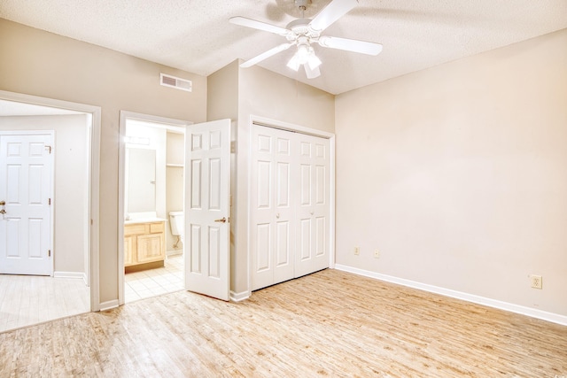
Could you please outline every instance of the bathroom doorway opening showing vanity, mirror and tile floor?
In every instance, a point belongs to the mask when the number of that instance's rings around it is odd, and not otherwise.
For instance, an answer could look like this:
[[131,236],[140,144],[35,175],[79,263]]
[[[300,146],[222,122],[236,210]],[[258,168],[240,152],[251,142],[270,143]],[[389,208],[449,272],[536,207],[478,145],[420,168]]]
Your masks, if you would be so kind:
[[120,112],[120,305],[184,289],[183,171],[188,125],[183,120]]

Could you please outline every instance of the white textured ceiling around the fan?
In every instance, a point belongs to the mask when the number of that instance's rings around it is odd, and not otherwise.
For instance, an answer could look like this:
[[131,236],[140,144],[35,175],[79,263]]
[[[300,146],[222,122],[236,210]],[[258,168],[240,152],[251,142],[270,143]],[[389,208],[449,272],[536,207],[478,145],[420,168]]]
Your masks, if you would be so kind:
[[[306,18],[330,0],[312,2]],[[280,27],[300,18],[293,0],[0,1],[0,18],[205,76],[285,42],[233,16]],[[293,49],[260,66],[338,94],[566,27],[567,0],[359,0],[323,35],[382,43],[377,57],[316,45],[313,80],[285,66]]]

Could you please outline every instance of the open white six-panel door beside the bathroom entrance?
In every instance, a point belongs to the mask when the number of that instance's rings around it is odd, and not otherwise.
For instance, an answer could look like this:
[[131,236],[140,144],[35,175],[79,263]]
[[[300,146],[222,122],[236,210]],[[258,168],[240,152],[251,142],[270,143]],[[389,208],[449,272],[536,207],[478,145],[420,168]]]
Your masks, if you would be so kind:
[[185,132],[185,288],[229,300],[230,120]]

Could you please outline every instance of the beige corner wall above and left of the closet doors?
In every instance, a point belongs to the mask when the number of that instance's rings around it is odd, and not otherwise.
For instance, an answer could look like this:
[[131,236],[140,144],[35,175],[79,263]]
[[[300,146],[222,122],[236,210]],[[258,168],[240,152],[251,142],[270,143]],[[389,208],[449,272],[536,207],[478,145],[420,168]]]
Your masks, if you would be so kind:
[[248,152],[251,116],[287,122],[332,133],[334,96],[293,81],[264,68],[239,68],[232,62],[208,78],[209,120],[233,120],[231,191],[231,276],[230,289],[242,294],[248,287]]

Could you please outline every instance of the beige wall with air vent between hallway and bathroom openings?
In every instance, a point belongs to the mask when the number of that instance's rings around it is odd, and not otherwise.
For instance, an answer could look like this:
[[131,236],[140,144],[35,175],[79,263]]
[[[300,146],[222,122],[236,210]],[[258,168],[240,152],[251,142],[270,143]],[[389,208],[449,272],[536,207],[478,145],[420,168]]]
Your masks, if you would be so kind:
[[[206,78],[0,19],[0,89],[102,108],[100,302],[118,298],[120,110],[206,120]],[[159,73],[193,81],[159,86]]]

